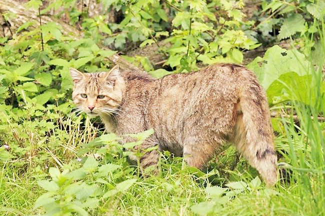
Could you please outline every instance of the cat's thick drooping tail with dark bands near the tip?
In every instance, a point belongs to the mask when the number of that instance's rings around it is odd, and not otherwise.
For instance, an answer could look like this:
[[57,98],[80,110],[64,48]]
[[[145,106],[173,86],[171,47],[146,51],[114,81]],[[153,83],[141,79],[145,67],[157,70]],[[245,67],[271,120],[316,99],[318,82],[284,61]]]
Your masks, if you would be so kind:
[[265,91],[254,80],[242,85],[239,93],[234,143],[266,185],[273,186],[277,157],[270,113]]

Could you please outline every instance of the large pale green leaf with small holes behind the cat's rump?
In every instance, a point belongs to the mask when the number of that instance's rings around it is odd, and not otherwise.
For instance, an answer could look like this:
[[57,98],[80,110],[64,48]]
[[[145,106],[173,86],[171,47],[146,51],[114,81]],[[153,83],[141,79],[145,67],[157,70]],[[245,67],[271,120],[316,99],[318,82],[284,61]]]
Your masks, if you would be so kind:
[[260,84],[267,90],[281,74],[293,71],[300,76],[305,75],[311,71],[311,64],[297,50],[275,45],[266,50],[263,58],[255,58],[247,68],[255,72]]

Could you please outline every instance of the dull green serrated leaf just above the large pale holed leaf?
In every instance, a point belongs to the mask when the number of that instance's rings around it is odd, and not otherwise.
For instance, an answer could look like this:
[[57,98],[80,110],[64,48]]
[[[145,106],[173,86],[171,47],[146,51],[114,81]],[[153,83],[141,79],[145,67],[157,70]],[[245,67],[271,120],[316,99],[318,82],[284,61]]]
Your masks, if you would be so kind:
[[283,22],[280,33],[278,34],[279,39],[287,38],[296,32],[305,31],[305,20],[299,13],[293,13],[289,15]]

